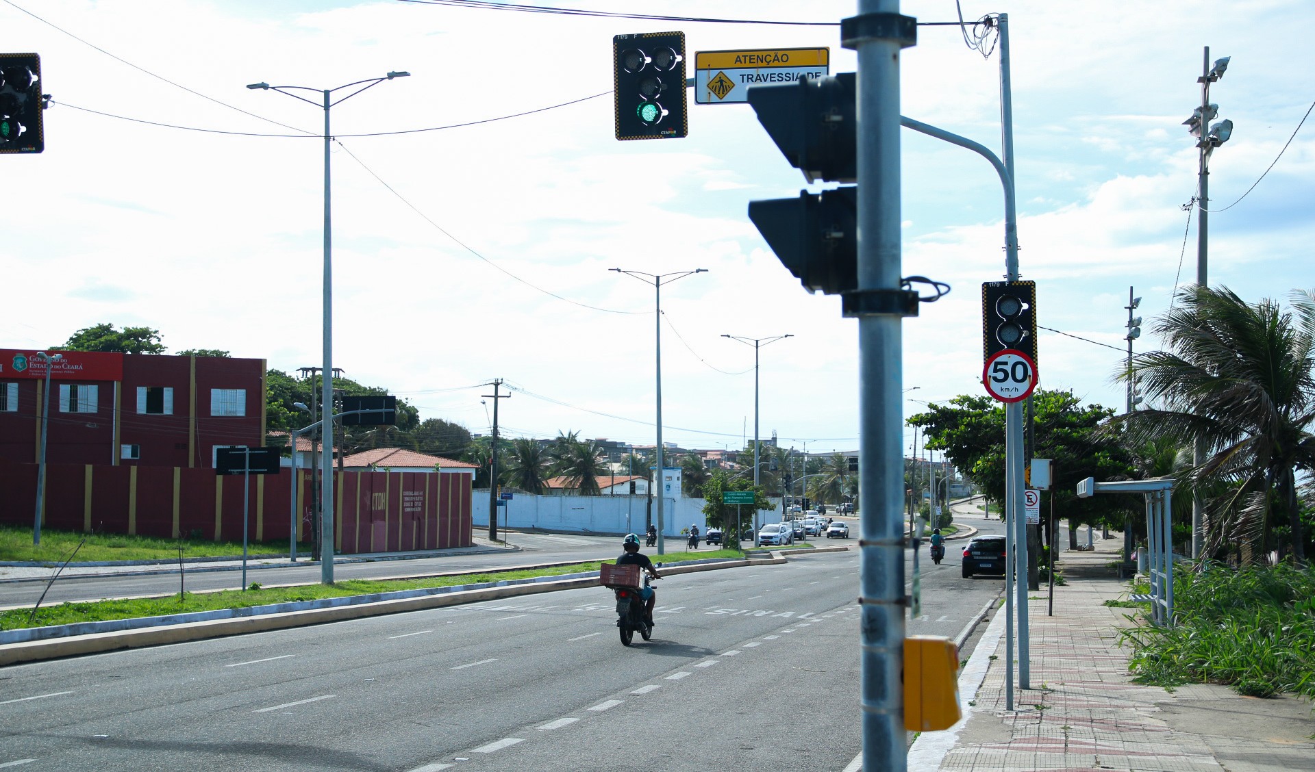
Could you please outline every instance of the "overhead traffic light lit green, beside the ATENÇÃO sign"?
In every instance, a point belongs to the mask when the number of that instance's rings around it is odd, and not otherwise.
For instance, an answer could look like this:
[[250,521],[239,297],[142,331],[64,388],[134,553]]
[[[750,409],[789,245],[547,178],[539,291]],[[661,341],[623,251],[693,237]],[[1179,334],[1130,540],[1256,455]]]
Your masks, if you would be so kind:
[[688,134],[685,33],[611,38],[617,139],[672,139]]

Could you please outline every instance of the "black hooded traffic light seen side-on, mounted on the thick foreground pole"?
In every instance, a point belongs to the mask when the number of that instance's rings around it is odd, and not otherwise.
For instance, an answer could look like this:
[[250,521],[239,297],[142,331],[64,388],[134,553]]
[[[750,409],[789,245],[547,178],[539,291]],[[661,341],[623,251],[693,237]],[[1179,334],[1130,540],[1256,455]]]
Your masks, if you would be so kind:
[[[809,182],[857,179],[853,72],[748,89],[748,102],[790,165]],[[857,288],[857,188],[750,201],[748,217],[809,291]]]

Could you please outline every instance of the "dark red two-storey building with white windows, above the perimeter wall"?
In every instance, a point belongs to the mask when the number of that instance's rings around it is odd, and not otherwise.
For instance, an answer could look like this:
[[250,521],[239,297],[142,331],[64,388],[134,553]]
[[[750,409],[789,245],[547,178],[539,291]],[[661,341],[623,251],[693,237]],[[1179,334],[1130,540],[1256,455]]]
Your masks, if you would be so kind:
[[[46,362],[0,349],[0,458],[41,458]],[[47,463],[214,467],[264,445],[264,360],[50,352]]]

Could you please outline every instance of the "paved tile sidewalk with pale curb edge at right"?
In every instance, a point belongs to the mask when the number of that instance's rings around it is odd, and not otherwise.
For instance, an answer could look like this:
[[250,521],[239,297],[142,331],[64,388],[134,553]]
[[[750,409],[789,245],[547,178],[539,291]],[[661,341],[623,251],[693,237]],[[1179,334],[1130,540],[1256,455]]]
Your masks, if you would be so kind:
[[1103,605],[1126,590],[1110,567],[1122,534],[1111,536],[1094,551],[1061,553],[1068,584],[1055,588],[1055,616],[1045,616],[1044,584],[1030,593],[1031,689],[1015,691],[1015,710],[1005,709],[1005,614],[997,613],[960,679],[964,721],[919,735],[909,769],[1315,771],[1307,701],[1132,683],[1118,629],[1136,609]]

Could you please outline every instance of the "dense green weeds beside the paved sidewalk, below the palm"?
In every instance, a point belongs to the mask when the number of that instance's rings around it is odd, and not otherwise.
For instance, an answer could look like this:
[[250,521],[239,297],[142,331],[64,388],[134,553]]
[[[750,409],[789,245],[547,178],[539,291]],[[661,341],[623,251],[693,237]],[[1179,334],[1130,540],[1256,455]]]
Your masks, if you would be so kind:
[[1315,698],[1315,567],[1212,565],[1174,574],[1173,628],[1122,632],[1143,684],[1224,684],[1241,695]]

